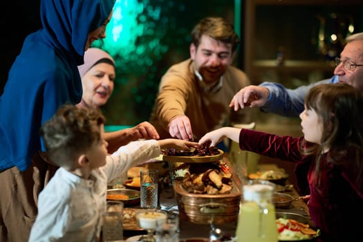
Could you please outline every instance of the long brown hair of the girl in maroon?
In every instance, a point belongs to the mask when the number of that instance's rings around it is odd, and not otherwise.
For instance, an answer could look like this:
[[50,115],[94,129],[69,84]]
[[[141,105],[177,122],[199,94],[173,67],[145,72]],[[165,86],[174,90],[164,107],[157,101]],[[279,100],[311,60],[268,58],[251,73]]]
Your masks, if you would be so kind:
[[328,149],[328,162],[357,171],[362,185],[363,97],[348,84],[322,84],[310,89],[306,109],[314,109],[322,122],[322,140],[308,144],[304,154],[316,156],[315,182],[319,185],[322,154]]

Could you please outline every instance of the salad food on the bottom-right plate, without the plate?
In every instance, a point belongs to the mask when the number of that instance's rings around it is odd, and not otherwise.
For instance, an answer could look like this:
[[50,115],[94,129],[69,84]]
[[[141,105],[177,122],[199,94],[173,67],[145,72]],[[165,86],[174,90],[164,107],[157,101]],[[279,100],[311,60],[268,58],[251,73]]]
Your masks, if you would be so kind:
[[308,224],[300,223],[295,219],[277,218],[277,231],[279,241],[300,241],[314,239],[319,235],[319,230],[313,230]]

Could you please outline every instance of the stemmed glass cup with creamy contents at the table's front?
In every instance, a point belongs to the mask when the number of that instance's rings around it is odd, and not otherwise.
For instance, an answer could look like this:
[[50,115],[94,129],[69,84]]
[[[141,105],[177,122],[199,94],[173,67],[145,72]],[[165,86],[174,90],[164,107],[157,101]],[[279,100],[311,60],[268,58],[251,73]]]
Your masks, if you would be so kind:
[[138,210],[135,214],[138,226],[147,230],[147,236],[142,236],[142,242],[156,242],[153,236],[157,225],[162,225],[167,221],[167,212],[158,209]]

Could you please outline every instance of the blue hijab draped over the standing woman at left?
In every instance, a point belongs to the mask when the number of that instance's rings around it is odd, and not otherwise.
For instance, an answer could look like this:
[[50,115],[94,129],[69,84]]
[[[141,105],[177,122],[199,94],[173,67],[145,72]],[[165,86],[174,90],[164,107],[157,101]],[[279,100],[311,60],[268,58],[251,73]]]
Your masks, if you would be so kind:
[[77,66],[90,32],[109,17],[115,0],[41,0],[42,28],[26,37],[0,97],[0,171],[28,168],[44,150],[41,124],[65,103],[82,98]]

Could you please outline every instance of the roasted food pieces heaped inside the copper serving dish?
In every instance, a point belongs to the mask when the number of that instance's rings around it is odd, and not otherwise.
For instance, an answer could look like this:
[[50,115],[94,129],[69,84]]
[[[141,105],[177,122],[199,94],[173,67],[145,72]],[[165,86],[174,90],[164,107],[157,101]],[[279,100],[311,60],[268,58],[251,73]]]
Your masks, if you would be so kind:
[[232,173],[223,161],[182,163],[174,170],[174,178],[194,194],[227,194],[232,189]]

